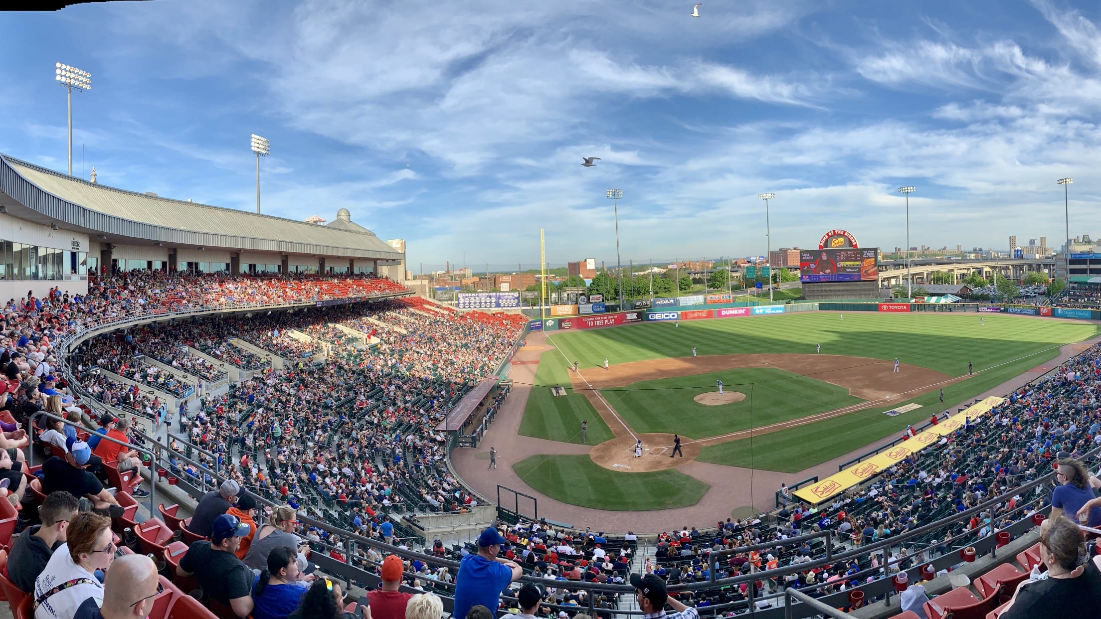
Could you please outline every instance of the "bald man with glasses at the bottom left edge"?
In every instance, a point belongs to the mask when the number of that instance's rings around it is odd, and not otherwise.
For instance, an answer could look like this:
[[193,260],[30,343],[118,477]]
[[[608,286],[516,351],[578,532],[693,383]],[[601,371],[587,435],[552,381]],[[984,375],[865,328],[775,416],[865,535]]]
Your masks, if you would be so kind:
[[156,564],[141,554],[121,556],[103,576],[103,607],[88,598],[73,619],[137,619],[149,617],[153,598],[162,591]]

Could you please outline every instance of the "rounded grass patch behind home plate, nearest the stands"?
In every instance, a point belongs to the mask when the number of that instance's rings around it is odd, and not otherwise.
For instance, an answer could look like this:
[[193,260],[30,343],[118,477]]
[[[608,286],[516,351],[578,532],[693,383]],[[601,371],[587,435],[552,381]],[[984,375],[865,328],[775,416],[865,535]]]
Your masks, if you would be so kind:
[[589,456],[537,455],[512,466],[532,488],[559,501],[592,509],[648,511],[699,502],[710,486],[675,470],[619,473]]

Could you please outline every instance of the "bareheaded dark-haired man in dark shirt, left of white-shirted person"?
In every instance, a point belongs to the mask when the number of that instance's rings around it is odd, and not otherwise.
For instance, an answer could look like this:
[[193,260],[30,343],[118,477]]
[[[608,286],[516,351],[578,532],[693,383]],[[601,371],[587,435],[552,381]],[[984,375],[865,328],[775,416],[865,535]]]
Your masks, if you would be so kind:
[[65,532],[79,507],[76,497],[65,491],[53,492],[42,501],[39,508],[42,524],[24,529],[8,554],[8,578],[20,590],[34,590],[35,578],[45,569],[54,551],[65,543]]

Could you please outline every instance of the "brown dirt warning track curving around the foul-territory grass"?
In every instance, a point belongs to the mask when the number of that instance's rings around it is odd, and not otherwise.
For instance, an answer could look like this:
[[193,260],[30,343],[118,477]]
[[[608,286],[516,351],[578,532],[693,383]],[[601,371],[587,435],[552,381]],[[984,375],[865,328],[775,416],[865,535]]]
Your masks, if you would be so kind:
[[[1080,352],[1084,347],[1098,343],[1101,343],[1101,336],[1083,343],[1061,346],[1059,355],[1046,361],[1044,366],[1054,368]],[[527,337],[527,344],[528,346],[543,347],[543,349],[525,350],[524,348],[520,348],[516,354],[517,360],[534,360],[539,355],[557,354],[554,346],[546,341],[546,334],[544,333],[531,334]],[[538,497],[538,513],[541,518],[575,526],[588,525],[604,531],[618,532],[630,530],[639,534],[659,533],[682,525],[709,526],[719,520],[730,518],[731,511],[735,508],[750,504],[749,497],[751,496],[753,497],[753,506],[755,508],[759,510],[770,509],[774,504],[775,491],[780,488],[781,482],[794,482],[816,475],[825,479],[838,471],[839,464],[879,446],[886,445],[896,438],[895,435],[887,436],[797,474],[768,470],[751,471],[748,468],[701,461],[687,463],[679,467],[678,470],[711,486],[711,489],[708,490],[697,504],[687,508],[648,512],[582,508],[543,496],[525,484],[512,470],[512,465],[535,454],[587,454],[589,450],[588,445],[575,445],[520,435],[520,422],[524,415],[524,408],[527,405],[527,397],[532,389],[530,385],[535,382],[536,368],[535,363],[512,366],[509,377],[513,380],[512,393],[501,406],[497,420],[486,433],[481,445],[478,448],[455,449],[451,453],[451,463],[456,473],[458,473],[464,481],[486,498],[497,500],[497,486],[500,484],[501,486]],[[1036,380],[1040,376],[1039,372],[1025,372],[977,398],[1004,395],[1029,381]],[[494,470],[487,470],[486,467],[489,464],[487,459],[477,458],[477,454],[488,452],[490,446],[497,449],[498,468]]]

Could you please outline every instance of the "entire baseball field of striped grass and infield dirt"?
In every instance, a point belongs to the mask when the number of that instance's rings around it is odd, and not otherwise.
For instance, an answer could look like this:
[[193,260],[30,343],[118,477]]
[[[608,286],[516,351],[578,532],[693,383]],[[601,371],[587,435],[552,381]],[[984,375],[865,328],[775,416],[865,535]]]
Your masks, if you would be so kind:
[[[532,455],[513,468],[571,504],[691,506],[707,486],[677,470],[686,463],[803,471],[1015,377],[1038,377],[1060,346],[1098,330],[998,314],[980,322],[962,313],[808,312],[555,332],[520,434],[579,444],[585,420],[593,447],[588,456]],[[684,458],[668,457],[674,434]]]

